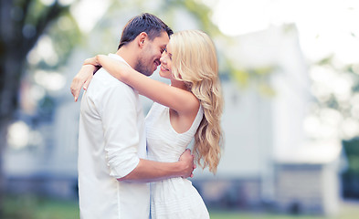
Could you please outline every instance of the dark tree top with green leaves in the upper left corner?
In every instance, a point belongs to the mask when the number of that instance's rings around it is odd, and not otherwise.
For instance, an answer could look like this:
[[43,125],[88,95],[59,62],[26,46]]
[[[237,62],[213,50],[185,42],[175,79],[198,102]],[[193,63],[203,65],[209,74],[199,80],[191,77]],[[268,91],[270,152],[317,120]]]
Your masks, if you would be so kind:
[[[43,5],[40,1],[17,0],[9,3],[2,1],[2,13],[7,13],[2,22],[7,24],[1,28],[0,45],[0,126],[5,130],[8,121],[14,117],[18,107],[18,90],[24,75],[31,69],[27,63],[27,55],[37,40],[48,35],[56,40],[55,51],[58,53],[58,62],[55,66],[48,67],[44,61],[40,61],[32,68],[56,68],[63,64],[69,55],[69,51],[76,43],[79,36],[76,24],[69,22],[70,26],[60,25],[60,20],[71,19],[69,5],[60,5],[54,1],[52,5]],[[5,9],[3,9],[5,8]],[[6,20],[7,19],[7,20]],[[46,51],[44,51],[46,52]],[[46,55],[44,55],[46,56]],[[8,94],[8,95],[5,95]],[[5,122],[5,120],[7,120]],[[3,131],[4,132],[4,131]],[[3,133],[4,134],[4,133]],[[2,138],[3,140],[5,138]]]

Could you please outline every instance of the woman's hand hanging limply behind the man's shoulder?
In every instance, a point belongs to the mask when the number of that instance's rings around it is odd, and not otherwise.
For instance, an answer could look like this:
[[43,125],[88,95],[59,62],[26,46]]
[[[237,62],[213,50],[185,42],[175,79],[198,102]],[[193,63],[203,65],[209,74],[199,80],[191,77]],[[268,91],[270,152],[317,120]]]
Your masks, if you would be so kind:
[[70,86],[72,96],[74,96],[75,102],[79,99],[79,91],[82,86],[83,89],[88,89],[90,81],[93,77],[93,72],[95,72],[98,68],[92,65],[83,65],[81,69],[79,69],[79,73],[72,79],[72,83]]

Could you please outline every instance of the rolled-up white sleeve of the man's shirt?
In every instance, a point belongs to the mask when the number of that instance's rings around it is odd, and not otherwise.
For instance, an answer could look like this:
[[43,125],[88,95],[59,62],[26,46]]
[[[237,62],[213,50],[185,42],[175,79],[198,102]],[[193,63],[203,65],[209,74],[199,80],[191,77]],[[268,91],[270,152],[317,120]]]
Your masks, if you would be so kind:
[[136,168],[140,159],[136,98],[125,84],[113,86],[100,100],[100,117],[110,175],[121,178]]

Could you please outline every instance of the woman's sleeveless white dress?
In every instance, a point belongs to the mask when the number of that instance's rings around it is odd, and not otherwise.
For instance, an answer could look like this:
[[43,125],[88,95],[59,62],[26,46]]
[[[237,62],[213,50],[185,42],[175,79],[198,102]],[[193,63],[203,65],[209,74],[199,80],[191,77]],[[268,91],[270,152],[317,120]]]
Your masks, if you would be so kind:
[[[146,138],[149,160],[177,162],[195,136],[203,118],[199,108],[191,128],[177,133],[170,121],[169,108],[156,102],[146,117]],[[153,219],[206,219],[206,205],[192,183],[182,177],[151,183],[151,215]]]

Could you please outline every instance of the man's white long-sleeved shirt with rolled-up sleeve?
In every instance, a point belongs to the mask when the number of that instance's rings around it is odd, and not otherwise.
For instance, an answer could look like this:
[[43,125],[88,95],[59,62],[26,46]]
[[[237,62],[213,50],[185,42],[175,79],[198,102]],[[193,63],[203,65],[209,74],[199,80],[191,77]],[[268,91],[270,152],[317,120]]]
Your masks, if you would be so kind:
[[[109,57],[125,62],[115,54]],[[146,139],[138,93],[100,68],[80,107],[80,218],[149,218],[149,185],[117,181],[139,158],[146,158]]]

